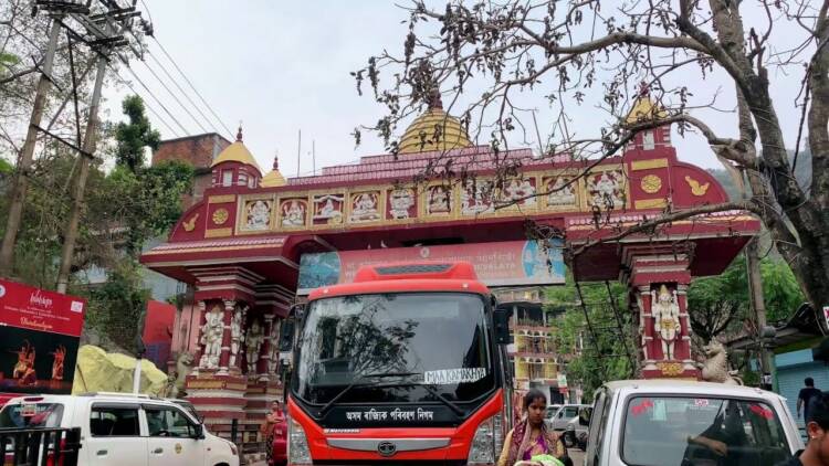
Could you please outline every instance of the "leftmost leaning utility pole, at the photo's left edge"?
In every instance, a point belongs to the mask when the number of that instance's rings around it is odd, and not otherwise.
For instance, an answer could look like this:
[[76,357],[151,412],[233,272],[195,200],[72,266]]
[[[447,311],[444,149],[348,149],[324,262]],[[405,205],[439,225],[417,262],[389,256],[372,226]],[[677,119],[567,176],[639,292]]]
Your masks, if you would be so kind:
[[52,81],[52,65],[54,64],[54,52],[57,45],[57,34],[61,31],[62,14],[52,18],[49,29],[49,45],[46,56],[43,60],[43,68],[38,80],[38,88],[34,94],[34,107],[29,119],[29,129],[25,134],[25,142],[18,158],[18,167],[14,172],[14,184],[11,188],[11,201],[9,204],[9,219],[6,222],[6,234],[0,248],[0,276],[10,276],[14,271],[14,244],[20,230],[20,219],[23,215],[23,203],[29,189],[29,170],[34,158],[34,146],[38,144],[38,127],[43,119],[43,107],[46,103],[46,93]]

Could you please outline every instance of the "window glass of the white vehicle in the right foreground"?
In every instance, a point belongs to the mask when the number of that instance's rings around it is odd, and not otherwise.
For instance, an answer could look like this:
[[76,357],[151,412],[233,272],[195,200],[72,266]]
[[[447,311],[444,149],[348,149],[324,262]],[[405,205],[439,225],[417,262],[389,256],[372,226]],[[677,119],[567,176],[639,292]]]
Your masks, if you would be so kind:
[[790,457],[775,410],[760,401],[637,396],[628,402],[629,465],[777,465]]

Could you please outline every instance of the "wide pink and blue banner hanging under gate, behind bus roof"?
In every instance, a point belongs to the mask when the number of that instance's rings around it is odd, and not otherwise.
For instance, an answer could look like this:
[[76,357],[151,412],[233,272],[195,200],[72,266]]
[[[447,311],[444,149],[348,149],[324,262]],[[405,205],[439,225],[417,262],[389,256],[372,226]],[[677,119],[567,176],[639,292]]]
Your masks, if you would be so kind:
[[475,267],[478,278],[492,287],[559,285],[565,280],[560,241],[554,241],[552,247],[535,241],[504,241],[303,254],[297,294],[350,283],[364,265],[408,261],[466,261]]

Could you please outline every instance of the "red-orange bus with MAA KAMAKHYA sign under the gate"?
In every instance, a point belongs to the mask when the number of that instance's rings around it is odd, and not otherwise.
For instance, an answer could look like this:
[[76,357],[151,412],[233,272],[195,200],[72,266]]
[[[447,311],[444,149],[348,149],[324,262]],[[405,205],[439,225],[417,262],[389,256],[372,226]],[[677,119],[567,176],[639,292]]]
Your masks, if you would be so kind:
[[471,264],[366,266],[312,292],[288,465],[494,465],[512,412],[508,316]]

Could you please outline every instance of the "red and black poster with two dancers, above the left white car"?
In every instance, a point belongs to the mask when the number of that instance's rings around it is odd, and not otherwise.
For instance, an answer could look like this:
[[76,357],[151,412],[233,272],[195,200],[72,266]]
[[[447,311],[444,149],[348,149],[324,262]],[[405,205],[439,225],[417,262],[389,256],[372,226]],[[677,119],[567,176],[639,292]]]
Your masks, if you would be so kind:
[[71,393],[86,301],[0,279],[0,392]]

